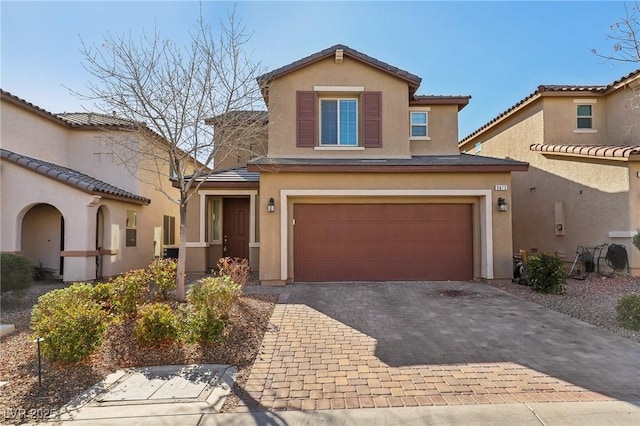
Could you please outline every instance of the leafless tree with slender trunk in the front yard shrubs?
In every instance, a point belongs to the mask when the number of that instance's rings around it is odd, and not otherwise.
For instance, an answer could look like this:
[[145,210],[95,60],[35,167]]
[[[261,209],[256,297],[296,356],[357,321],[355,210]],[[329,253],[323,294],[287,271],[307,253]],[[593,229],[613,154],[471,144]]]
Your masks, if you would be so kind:
[[256,84],[262,70],[245,53],[250,35],[235,10],[227,18],[214,36],[201,14],[186,46],[162,38],[154,29],[139,39],[109,34],[102,44],[83,43],[81,48],[84,66],[95,80],[87,93],[76,94],[105,113],[130,120],[138,134],[153,141],[140,144],[111,135],[109,139],[126,148],[121,150],[127,153],[126,163],[136,170],[165,170],[165,176],[170,165],[179,196],[172,196],[166,185],[157,189],[180,206],[179,300],[185,298],[190,197],[212,173],[216,152],[228,155],[244,149],[247,139],[264,131],[264,113],[237,114],[262,107]]

